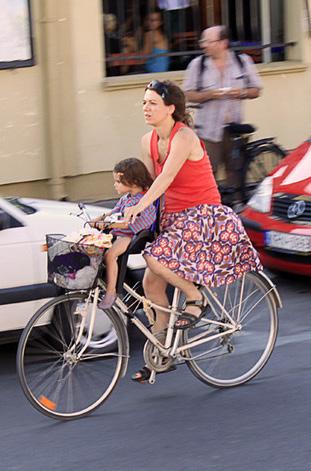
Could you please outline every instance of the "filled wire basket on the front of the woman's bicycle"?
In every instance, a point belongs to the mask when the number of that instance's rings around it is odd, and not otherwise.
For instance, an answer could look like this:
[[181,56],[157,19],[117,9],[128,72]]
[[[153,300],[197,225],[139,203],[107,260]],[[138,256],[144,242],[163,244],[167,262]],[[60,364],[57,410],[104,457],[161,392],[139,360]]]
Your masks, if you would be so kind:
[[48,281],[62,288],[88,289],[94,285],[102,262],[104,248],[69,242],[63,234],[46,236]]

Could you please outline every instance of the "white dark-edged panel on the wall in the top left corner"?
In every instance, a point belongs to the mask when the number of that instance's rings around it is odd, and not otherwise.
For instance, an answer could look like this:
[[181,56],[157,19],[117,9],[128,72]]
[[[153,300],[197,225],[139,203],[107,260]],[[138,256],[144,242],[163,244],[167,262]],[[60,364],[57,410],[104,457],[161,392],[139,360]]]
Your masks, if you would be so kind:
[[30,0],[0,0],[0,69],[34,64]]

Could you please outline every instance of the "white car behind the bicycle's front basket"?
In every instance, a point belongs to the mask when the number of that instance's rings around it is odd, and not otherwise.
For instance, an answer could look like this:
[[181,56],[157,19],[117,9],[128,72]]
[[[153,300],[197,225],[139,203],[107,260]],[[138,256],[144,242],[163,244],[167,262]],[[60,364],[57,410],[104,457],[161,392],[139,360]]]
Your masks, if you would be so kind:
[[[86,209],[91,218],[108,211],[91,205]],[[81,229],[78,212],[76,203],[0,198],[0,343],[15,340],[35,311],[56,295],[57,288],[47,283],[45,235]],[[107,333],[109,326],[98,324],[96,329]]]

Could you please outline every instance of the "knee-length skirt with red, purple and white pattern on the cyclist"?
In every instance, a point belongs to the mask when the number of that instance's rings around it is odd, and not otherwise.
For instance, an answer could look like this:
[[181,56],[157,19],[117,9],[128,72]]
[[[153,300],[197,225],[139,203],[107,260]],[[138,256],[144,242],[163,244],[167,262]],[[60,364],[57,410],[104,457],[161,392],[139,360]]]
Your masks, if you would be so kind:
[[144,255],[204,286],[233,283],[245,272],[262,270],[240,218],[223,205],[163,213],[160,235]]

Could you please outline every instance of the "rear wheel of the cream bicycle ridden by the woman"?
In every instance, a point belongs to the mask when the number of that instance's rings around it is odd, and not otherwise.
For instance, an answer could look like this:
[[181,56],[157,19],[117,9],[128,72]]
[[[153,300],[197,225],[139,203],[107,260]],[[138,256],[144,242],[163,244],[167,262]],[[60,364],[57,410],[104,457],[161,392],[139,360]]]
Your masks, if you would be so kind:
[[[213,289],[240,330],[186,350],[186,364],[198,379],[213,387],[228,388],[246,383],[265,366],[278,331],[277,307],[269,289],[261,275],[254,272]],[[211,312],[207,318],[226,323],[223,309],[210,296],[209,301]],[[205,332],[219,334],[224,328],[202,322],[185,331],[184,342]]]

